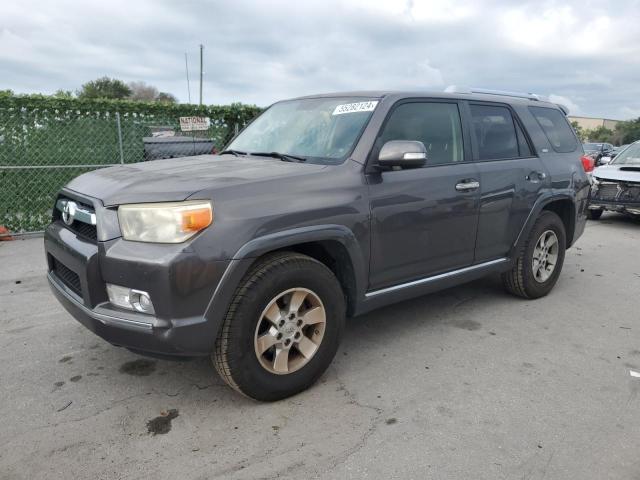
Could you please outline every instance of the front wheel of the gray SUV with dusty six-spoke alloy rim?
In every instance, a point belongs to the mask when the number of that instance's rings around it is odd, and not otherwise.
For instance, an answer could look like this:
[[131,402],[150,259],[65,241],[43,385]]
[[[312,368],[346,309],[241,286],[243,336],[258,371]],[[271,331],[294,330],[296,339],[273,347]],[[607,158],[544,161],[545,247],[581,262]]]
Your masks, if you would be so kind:
[[[304,299],[298,302],[293,295]],[[291,318],[292,304],[297,303],[301,306]],[[314,315],[307,316],[312,310]],[[229,386],[247,397],[275,401],[295,395],[329,367],[342,337],[345,311],[340,283],[325,265],[293,252],[268,255],[236,290],[216,340],[213,364]],[[268,340],[260,343],[263,338]],[[270,346],[260,354],[264,345]]]

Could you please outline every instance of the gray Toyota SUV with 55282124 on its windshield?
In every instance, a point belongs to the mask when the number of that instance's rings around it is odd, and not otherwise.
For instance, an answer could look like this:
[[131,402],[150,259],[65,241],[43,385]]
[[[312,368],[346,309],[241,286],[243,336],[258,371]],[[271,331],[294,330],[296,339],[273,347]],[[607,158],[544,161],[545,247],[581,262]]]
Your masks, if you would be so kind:
[[582,155],[565,111],[528,95],[282,101],[219,155],[71,181],[48,279],[113,345],[209,355],[234,389],[277,400],[322,375],[346,317],[495,273],[546,295],[584,230]]

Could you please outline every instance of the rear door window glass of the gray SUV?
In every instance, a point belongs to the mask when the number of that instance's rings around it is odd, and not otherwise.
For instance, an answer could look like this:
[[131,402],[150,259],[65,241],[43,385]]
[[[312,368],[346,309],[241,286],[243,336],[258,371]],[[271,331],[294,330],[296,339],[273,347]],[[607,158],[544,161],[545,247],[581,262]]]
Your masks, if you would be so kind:
[[[520,157],[520,145],[526,141],[516,134],[516,127],[507,107],[471,104],[473,132],[476,136],[480,160],[500,160]],[[528,150],[528,146],[527,146]],[[529,156],[531,152],[523,152]]]

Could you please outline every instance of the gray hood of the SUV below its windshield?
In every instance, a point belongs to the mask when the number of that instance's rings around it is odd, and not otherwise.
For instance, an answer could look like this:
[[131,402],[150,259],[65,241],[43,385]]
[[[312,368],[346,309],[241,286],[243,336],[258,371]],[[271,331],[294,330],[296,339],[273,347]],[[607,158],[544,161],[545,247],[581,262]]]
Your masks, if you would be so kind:
[[324,168],[265,157],[200,155],[102,168],[75,178],[66,188],[102,200],[105,206],[177,202],[200,190],[304,175]]

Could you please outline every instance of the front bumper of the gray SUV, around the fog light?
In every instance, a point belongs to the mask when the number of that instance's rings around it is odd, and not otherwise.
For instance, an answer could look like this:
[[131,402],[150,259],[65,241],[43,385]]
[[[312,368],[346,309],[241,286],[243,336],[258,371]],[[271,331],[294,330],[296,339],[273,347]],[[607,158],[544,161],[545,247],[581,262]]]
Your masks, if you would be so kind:
[[[91,241],[54,222],[45,231],[48,281],[64,308],[108,342],[160,355],[208,355],[219,321],[212,298],[229,264],[193,244]],[[106,283],[147,291],[155,316],[112,306]],[[224,308],[224,306],[221,306]]]

